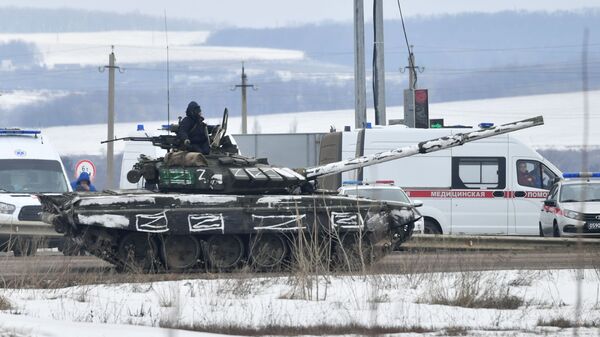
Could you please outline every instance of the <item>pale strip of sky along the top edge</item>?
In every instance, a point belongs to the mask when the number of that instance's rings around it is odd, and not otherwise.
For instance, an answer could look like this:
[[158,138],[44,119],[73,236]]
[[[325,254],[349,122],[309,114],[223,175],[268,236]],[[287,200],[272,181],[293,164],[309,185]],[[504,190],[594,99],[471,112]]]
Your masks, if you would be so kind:
[[[371,17],[372,0],[365,0],[365,17]],[[600,7],[600,0],[401,0],[403,15],[439,15],[469,11],[556,11]],[[139,12],[155,16],[196,19],[208,23],[243,27],[275,27],[349,21],[351,0],[1,0],[0,7],[80,8],[87,10]],[[384,0],[384,17],[398,19],[397,0]]]

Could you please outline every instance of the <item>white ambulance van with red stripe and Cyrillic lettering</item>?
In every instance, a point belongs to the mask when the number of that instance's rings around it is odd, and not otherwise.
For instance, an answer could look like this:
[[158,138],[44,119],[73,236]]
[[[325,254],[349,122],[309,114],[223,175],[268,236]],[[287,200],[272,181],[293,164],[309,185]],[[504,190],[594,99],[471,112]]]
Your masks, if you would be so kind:
[[[469,131],[472,129],[393,125],[330,133],[321,141],[320,162]],[[519,180],[519,165],[534,179]],[[341,180],[351,179],[393,180],[411,198],[423,201],[419,211],[425,218],[426,233],[538,235],[542,201],[561,172],[514,135],[504,134],[365,167],[362,177],[356,175],[353,171],[330,178],[323,187],[335,189]]]

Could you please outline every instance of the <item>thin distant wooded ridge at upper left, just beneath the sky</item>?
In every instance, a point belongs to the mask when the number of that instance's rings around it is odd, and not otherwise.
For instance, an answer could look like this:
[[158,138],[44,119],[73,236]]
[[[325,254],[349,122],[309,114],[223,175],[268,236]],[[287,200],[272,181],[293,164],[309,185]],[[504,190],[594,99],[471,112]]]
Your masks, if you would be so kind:
[[[203,30],[207,25],[169,19],[169,30]],[[165,19],[139,13],[0,7],[1,33],[94,32],[107,30],[164,30]]]

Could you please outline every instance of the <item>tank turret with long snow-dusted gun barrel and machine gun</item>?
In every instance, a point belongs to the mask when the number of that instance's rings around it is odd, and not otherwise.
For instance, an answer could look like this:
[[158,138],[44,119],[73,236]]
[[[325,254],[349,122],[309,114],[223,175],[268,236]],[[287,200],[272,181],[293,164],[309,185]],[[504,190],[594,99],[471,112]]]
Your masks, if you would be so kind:
[[[210,193],[210,194],[301,194],[315,190],[316,179],[365,166],[396,160],[416,154],[430,153],[466,144],[479,139],[513,132],[544,123],[541,116],[496,127],[458,133],[431,139],[412,146],[342,160],[311,168],[286,168],[268,164],[267,159],[248,158],[237,153],[229,138],[224,136],[227,127],[227,110],[223,124],[212,137],[211,153],[187,152],[178,146],[177,137],[160,136],[158,140],[146,138],[155,145],[169,150],[164,158],[149,160],[141,157],[127,175],[131,183],[141,177],[157,185],[160,192]],[[156,138],[156,137],[155,137]],[[140,139],[129,139],[140,140]]]

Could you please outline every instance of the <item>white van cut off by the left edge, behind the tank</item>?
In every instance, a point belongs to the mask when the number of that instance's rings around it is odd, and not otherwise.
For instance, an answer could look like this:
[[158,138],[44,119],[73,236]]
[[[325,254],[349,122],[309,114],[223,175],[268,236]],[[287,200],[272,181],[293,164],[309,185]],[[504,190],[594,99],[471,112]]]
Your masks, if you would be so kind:
[[33,255],[40,240],[59,247],[62,235],[41,222],[36,193],[71,190],[58,153],[38,130],[0,129],[0,249]]

